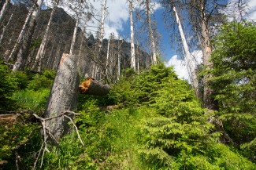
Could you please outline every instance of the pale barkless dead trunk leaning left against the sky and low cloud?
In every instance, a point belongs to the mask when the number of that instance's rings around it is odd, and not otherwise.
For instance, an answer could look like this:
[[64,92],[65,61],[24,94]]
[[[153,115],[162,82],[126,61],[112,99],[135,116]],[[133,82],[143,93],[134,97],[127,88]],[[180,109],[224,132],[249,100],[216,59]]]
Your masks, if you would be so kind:
[[182,28],[182,25],[180,23],[180,18],[179,18],[179,15],[176,11],[176,7],[173,5],[173,11],[175,13],[175,16],[176,16],[176,22],[178,24],[178,28],[179,28],[179,31],[180,31],[180,37],[181,37],[181,42],[184,46],[184,52],[185,52],[185,62],[186,62],[186,65],[187,65],[187,70],[191,73],[190,75],[190,79],[191,79],[191,84],[193,86],[193,89],[195,90],[195,95],[198,96],[198,78],[197,78],[197,75],[195,74],[195,67],[193,65],[193,56],[191,55],[191,52],[189,52],[189,48],[188,48],[188,45],[187,45],[187,41],[186,41],[186,38],[185,38],[185,34],[184,34],[184,31],[183,31],[183,28]]

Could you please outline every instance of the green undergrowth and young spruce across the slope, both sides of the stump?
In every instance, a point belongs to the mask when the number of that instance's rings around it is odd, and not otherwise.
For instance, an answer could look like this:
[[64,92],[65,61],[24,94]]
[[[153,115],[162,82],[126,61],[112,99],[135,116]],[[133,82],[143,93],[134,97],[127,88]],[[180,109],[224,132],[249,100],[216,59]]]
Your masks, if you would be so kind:
[[[5,76],[5,81],[10,78],[8,83],[16,82],[6,99],[17,110],[24,110],[25,117],[19,123],[0,126],[0,161],[7,161],[4,169],[15,169],[19,155],[20,169],[32,169],[43,139],[39,122],[28,111],[40,113],[46,106],[54,72]],[[74,120],[84,146],[72,128],[58,146],[48,144],[50,152],[41,154],[37,169],[256,167],[243,155],[250,150],[241,152],[220,143],[222,132],[207,121],[215,112],[202,108],[191,85],[163,63],[141,74],[127,71],[108,96],[79,95],[76,112],[80,115]]]

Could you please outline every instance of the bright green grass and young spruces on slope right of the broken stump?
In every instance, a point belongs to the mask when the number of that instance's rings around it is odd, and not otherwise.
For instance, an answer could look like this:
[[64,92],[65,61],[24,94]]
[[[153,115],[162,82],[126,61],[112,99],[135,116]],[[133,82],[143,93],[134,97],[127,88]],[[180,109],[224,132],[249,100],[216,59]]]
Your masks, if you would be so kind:
[[80,96],[78,112],[85,146],[72,132],[44,169],[255,169],[219,142],[190,85],[162,63],[121,79],[109,96]]

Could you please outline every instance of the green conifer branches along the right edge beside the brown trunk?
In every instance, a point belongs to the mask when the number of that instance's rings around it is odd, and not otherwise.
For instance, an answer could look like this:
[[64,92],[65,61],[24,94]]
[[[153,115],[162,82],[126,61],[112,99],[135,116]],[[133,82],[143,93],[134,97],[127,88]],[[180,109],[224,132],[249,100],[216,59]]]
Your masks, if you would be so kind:
[[[209,73],[224,128],[235,143],[249,144],[256,138],[256,26],[226,24],[213,45]],[[255,156],[255,142],[243,147],[254,153],[249,157]]]

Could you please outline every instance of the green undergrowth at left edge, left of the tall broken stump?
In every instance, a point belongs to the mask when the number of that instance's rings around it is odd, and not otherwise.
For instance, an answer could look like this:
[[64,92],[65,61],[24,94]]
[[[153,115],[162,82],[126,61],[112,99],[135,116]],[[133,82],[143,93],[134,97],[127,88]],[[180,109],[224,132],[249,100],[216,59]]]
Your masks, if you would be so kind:
[[14,115],[0,122],[0,169],[16,169],[16,161],[20,169],[32,169],[42,143],[41,124],[32,113],[42,116],[55,71],[12,73],[4,64],[0,70],[0,114]]

